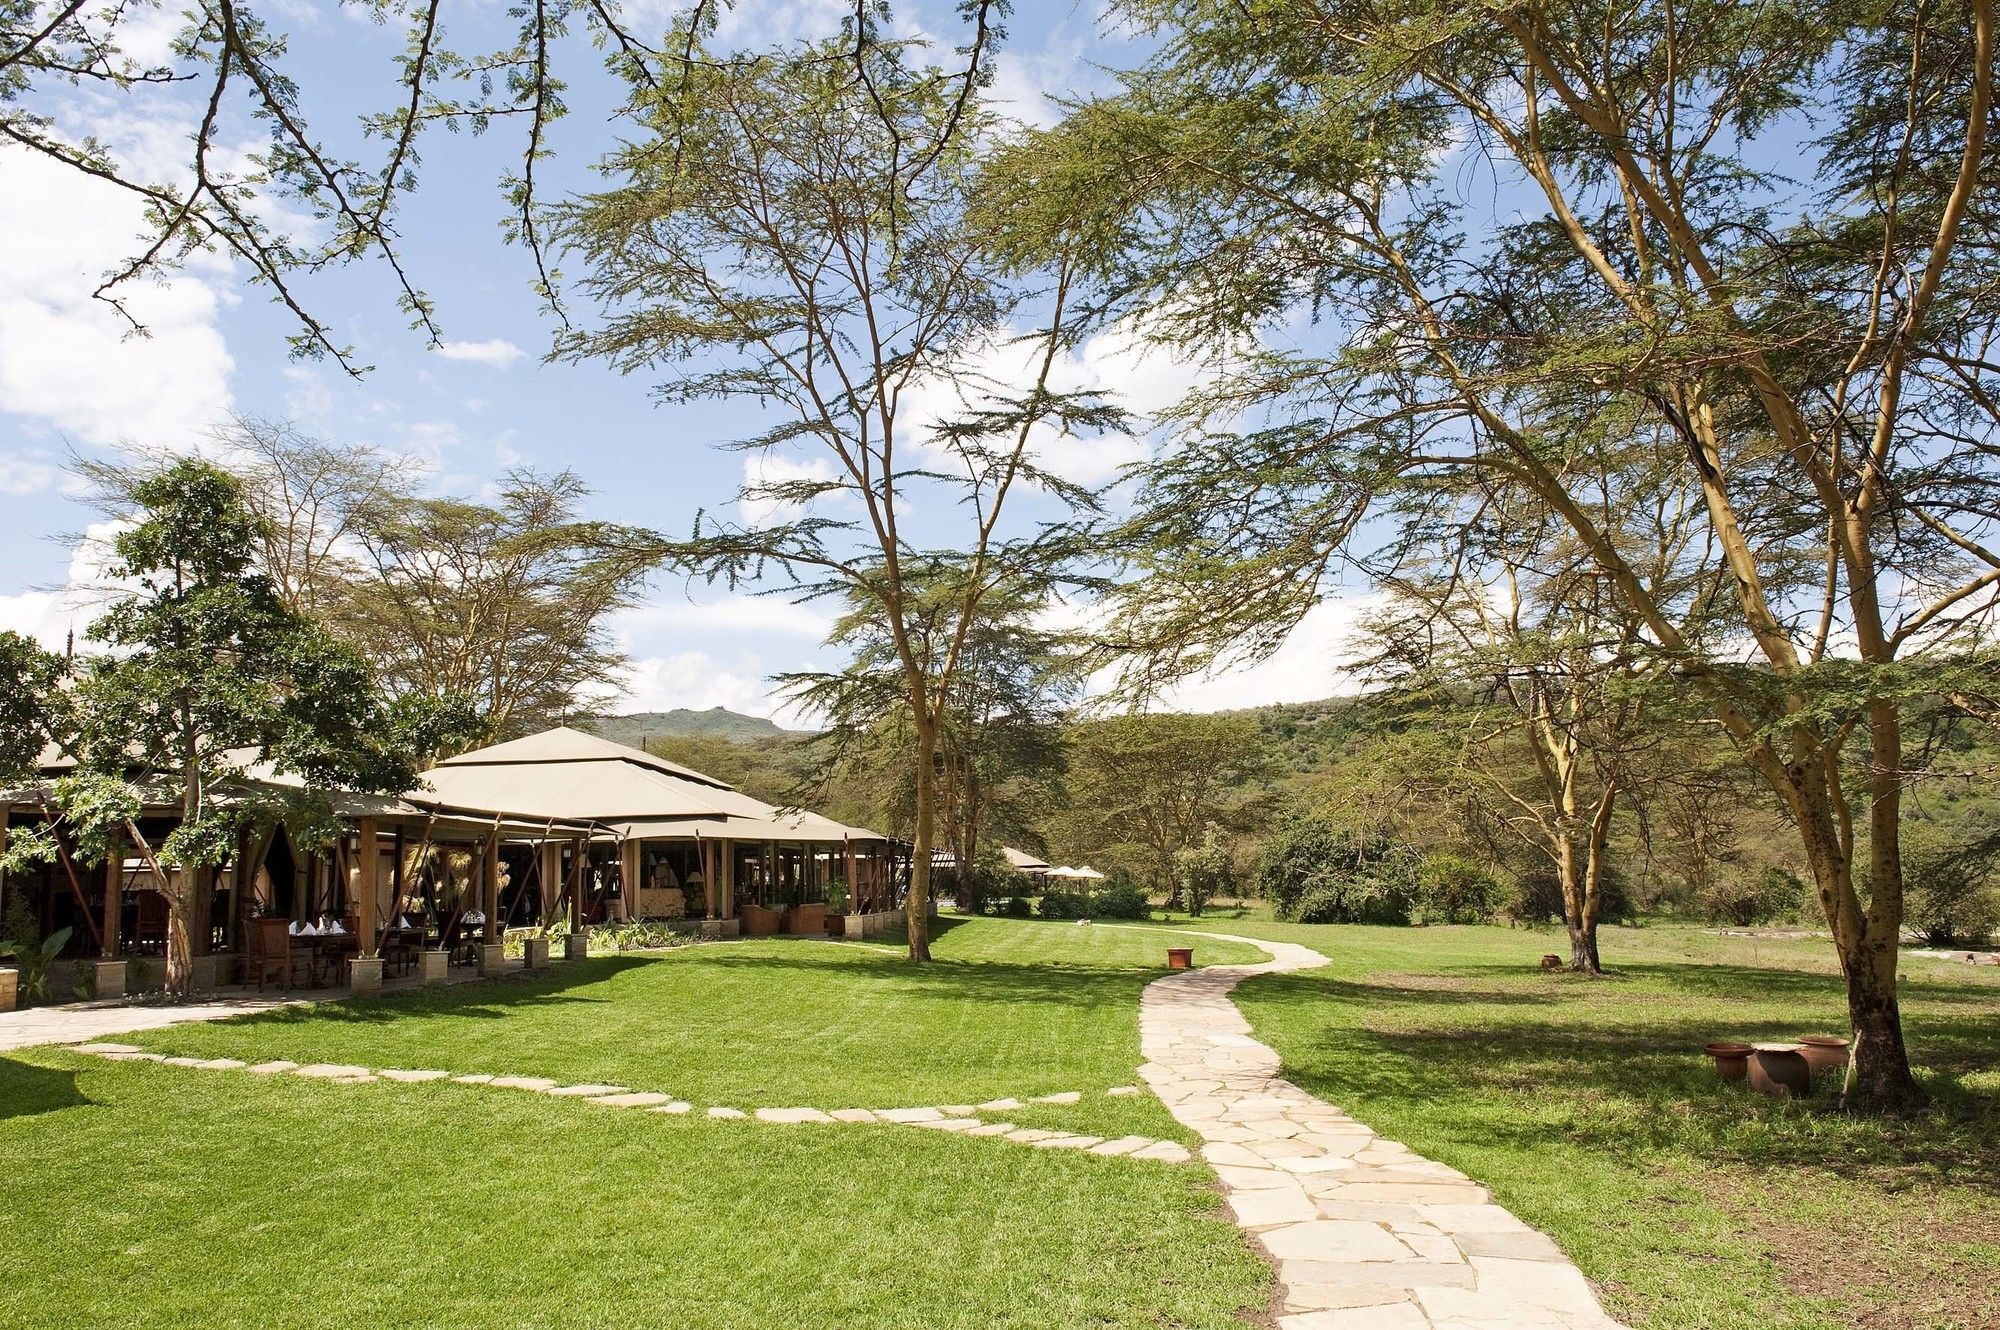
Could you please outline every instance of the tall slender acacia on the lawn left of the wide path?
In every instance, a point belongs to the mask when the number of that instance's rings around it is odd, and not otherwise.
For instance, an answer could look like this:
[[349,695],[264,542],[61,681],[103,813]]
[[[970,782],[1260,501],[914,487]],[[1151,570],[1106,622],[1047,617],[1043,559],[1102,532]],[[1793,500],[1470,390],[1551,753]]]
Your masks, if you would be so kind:
[[[742,516],[638,536],[630,556],[732,584],[776,570],[800,598],[848,596],[878,618],[912,738],[910,958],[928,960],[936,760],[968,634],[996,586],[1074,548],[1060,524],[1014,534],[1008,500],[1038,486],[1088,504],[1030,442],[1116,416],[1052,388],[1060,254],[1044,286],[1008,282],[970,216],[984,24],[964,68],[942,70],[876,22],[862,12],[842,40],[754,60],[698,52],[672,86],[634,86],[640,134],[604,164],[610,188],[560,212],[578,290],[604,304],[564,354],[666,368],[670,402],[764,412],[736,444]],[[1016,326],[1038,316],[1040,332]],[[1024,366],[982,374],[980,356]],[[912,508],[944,548],[920,544]],[[926,604],[948,606],[930,640]]]

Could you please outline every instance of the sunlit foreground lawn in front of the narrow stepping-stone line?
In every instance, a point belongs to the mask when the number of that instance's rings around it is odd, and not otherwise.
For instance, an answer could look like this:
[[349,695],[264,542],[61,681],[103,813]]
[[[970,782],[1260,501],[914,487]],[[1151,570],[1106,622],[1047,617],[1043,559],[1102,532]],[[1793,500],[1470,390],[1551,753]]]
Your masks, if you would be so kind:
[[0,1058],[0,1328],[1240,1324],[1186,1166],[472,1086]]

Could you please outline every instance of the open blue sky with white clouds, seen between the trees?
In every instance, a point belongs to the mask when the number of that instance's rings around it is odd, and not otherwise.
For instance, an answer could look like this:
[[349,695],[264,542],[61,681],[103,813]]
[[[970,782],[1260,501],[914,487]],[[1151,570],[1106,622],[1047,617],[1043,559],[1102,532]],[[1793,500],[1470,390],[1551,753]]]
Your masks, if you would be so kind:
[[[662,8],[628,6],[640,26]],[[822,28],[842,6],[810,0],[750,0],[724,20],[724,40],[768,40]],[[328,0],[282,0],[264,10],[290,32],[290,64],[314,128],[336,144],[364,110],[394,92],[400,38]],[[500,46],[514,20],[480,0],[452,12],[462,50]],[[172,10],[142,12],[138,40],[164,40]],[[956,40],[956,18],[934,0],[900,6],[898,20]],[[996,90],[1022,118],[1048,118],[1048,96],[1100,84],[1094,64],[1134,52],[1104,30],[1096,4],[1026,0],[1010,20]],[[566,52],[570,116],[554,130],[556,158],[542,168],[550,198],[588,188],[590,162],[612,142],[616,86],[580,40]],[[186,106],[74,98],[64,122],[118,144],[130,160],[162,170],[182,150]],[[254,142],[236,126],[232,148]],[[18,154],[0,154],[0,628],[60,644],[88,610],[64,592],[86,570],[72,536],[90,522],[68,492],[70,448],[122,444],[192,446],[228,414],[296,422],[322,438],[414,452],[438,490],[476,494],[510,466],[574,468],[594,488],[592,514],[682,532],[700,508],[726,506],[744,476],[744,456],[716,448],[748,432],[740,408],[654,406],[650,382],[598,366],[544,364],[552,320],[530,288],[528,256],[502,242],[500,174],[518,160],[508,126],[484,138],[434,136],[424,146],[422,184],[402,214],[408,266],[436,298],[446,344],[426,348],[396,310],[378,264],[350,266],[302,286],[308,304],[358,360],[374,366],[350,380],[334,364],[286,356],[288,316],[238,268],[198,258],[172,280],[134,298],[152,336],[120,336],[112,312],[90,300],[96,278],[130,252],[136,212],[112,190]],[[366,148],[352,144],[352,154]],[[1116,340],[1084,348],[1072,380],[1122,392],[1136,408],[1164,406],[1182,374]],[[1142,454],[1140,440],[1074,446],[1062,468],[1092,482]],[[1344,690],[1336,654],[1352,606],[1332,604],[1262,666],[1202,680],[1172,704],[1192,710],[1304,700]],[[788,718],[766,678],[812,660],[826,616],[782,598],[684,588],[660,580],[648,602],[616,624],[632,674],[620,708],[732,706]]]

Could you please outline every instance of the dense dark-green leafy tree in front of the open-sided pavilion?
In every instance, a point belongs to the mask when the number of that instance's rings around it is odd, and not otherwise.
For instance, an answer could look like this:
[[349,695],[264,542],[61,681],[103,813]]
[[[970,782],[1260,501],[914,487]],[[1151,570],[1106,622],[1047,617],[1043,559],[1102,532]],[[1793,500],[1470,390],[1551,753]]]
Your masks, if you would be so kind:
[[[166,896],[166,988],[192,986],[192,920],[244,818],[218,786],[264,762],[314,790],[398,794],[466,716],[384,702],[368,666],[280,600],[254,562],[258,518],[240,482],[206,462],[140,480],[110,578],[132,590],[90,626],[110,648],[76,684],[80,778],[56,784],[66,822],[98,856],[138,848]],[[132,772],[162,774],[180,822],[154,850],[138,834]],[[178,874],[168,868],[180,868]]]

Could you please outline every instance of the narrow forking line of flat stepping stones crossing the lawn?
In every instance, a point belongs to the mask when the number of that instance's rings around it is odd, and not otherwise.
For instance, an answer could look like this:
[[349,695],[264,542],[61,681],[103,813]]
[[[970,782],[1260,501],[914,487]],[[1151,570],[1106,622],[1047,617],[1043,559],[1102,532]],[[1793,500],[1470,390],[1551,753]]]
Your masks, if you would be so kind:
[[[462,1086],[490,1086],[494,1090],[528,1090],[534,1094],[550,1094],[556,1098],[574,1098],[586,1104],[598,1104],[604,1108],[646,1108],[650,1112],[662,1114],[686,1114],[694,1110],[694,1104],[678,1100],[672,1094],[656,1094],[652,1090],[630,1090],[626,1086],[608,1086],[598,1082],[566,1086],[550,1076],[494,1076],[492,1072],[464,1072],[454,1076],[452,1072],[442,1072],[436,1068],[370,1068],[352,1066],[344,1062],[286,1062],[282,1058],[270,1062],[242,1062],[238,1058],[170,1058],[166,1054],[148,1052],[136,1044],[114,1044],[114,1042],[90,1042],[78,1044],[76,1052],[86,1052],[98,1058],[108,1058],[112,1062],[158,1062],[162,1066],[184,1066],[204,1072],[250,1072],[256,1076],[306,1076],[310,1080],[326,1080],[342,1086],[358,1086],[368,1082],[390,1082],[390,1084],[422,1084],[430,1080],[452,1080]],[[1112,1086],[1104,1094],[1126,1096],[1142,1094],[1138,1086]],[[1160,1160],[1168,1164],[1184,1164],[1192,1156],[1188,1148],[1176,1140],[1154,1140],[1150,1136],[1118,1136],[1106,1140],[1104,1136],[1088,1136],[1082,1132],[1050,1132],[1034,1126],[1014,1126],[1012,1122],[986,1120],[980,1114],[1002,1114],[1012,1108],[1026,1108],[1028,1104],[1076,1104],[1084,1096],[1080,1090],[1062,1090],[1058,1094],[1038,1094],[1030,1100],[1002,1098],[988,1100],[986,1104],[938,1104],[926,1108],[732,1108],[728,1104],[714,1104],[706,1110],[710,1118],[754,1118],[756,1122],[774,1124],[804,1124],[804,1122],[882,1122],[892,1126],[920,1126],[934,1132],[964,1132],[966,1136],[998,1136],[1022,1146],[1036,1146],[1040,1150],[1084,1150],[1088,1154],[1128,1154],[1136,1160]]]

